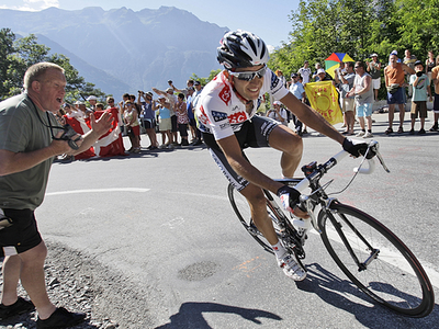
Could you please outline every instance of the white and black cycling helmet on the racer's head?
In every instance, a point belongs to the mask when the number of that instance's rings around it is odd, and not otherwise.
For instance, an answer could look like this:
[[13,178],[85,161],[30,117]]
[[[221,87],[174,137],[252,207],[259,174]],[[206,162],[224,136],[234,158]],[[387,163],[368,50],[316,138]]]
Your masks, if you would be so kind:
[[228,70],[264,65],[270,58],[264,42],[251,32],[227,32],[219,43],[217,59]]

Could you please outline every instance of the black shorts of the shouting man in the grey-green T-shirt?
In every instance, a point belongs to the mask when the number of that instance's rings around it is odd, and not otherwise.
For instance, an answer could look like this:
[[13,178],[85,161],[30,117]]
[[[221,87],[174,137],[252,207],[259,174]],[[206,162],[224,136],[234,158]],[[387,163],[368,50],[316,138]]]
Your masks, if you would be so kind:
[[10,227],[0,229],[0,257],[18,254],[40,245],[42,237],[31,209],[3,209],[12,219]]

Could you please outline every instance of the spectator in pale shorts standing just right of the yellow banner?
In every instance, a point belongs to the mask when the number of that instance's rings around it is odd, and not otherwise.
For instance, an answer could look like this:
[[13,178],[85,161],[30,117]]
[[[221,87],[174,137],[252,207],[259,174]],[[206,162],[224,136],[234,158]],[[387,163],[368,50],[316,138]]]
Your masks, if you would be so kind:
[[354,97],[348,97],[348,93],[353,88],[353,80],[356,78],[356,73],[353,71],[354,64],[352,61],[348,61],[346,64],[346,75],[341,75],[340,81],[340,103],[341,103],[341,111],[345,116],[345,125],[346,131],[341,134],[344,135],[353,135],[353,125],[356,123],[356,115],[354,115]]

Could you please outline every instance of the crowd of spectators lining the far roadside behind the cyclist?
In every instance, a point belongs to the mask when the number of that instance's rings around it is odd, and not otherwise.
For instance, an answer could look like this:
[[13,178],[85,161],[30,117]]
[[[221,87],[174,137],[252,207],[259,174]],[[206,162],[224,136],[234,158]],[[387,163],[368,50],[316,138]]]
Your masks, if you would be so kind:
[[[305,60],[303,67],[296,72],[291,73],[290,79],[281,70],[275,70],[275,75],[297,99],[308,105],[304,86],[309,82],[331,81],[339,94],[339,105],[344,113],[342,128],[345,129],[342,133],[364,138],[373,137],[372,105],[373,102],[379,101],[379,90],[383,84],[386,88],[389,104],[386,134],[393,133],[395,105],[399,110],[397,133],[404,132],[402,126],[407,100],[412,101],[409,134],[415,134],[414,127],[418,117],[420,118],[418,134],[425,134],[426,103],[428,98],[432,101],[432,92],[435,92],[435,118],[430,132],[438,132],[439,56],[435,58],[434,53],[428,52],[428,57],[423,63],[407,49],[403,60],[397,57],[396,50],[390,54],[386,64],[380,63],[378,57],[378,54],[372,54],[367,63],[340,63],[334,77],[319,63],[314,65],[315,70],[313,71],[308,60]],[[58,120],[61,124],[70,124],[79,134],[85,134],[91,128],[91,113],[99,117],[105,111],[111,112],[114,121],[113,129],[101,137],[103,141],[97,143],[101,144],[100,146],[91,147],[86,152],[77,155],[75,159],[138,154],[143,150],[140,147],[142,134],[148,138],[149,146],[146,147],[146,150],[201,145],[203,141],[201,133],[196,128],[194,110],[202,84],[200,81],[193,80],[188,80],[187,87],[183,89],[176,88],[171,80],[168,81],[168,84],[169,88],[166,90],[153,88],[147,92],[138,91],[137,97],[125,93],[119,103],[115,103],[114,98],[110,97],[104,105],[104,103],[98,103],[94,95],[88,97],[87,102],[78,101],[71,105],[66,103],[59,111]],[[430,84],[434,87],[432,91]],[[307,134],[306,126],[286,111],[282,103],[272,102],[270,107],[264,115],[284,125],[292,122],[299,135]],[[364,122],[363,118],[367,121]],[[360,123],[360,131],[354,132],[356,123]],[[124,148],[123,136],[127,136],[131,141],[131,148],[127,150]],[[66,156],[64,159],[71,159],[71,157]]]

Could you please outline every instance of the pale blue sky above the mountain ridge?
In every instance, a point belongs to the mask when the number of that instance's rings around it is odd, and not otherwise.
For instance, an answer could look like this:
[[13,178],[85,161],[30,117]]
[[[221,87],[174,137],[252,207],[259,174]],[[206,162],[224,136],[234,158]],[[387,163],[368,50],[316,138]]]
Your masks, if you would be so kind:
[[[49,7],[80,10],[101,7],[104,10],[126,7],[134,11],[158,9],[161,5],[187,10],[201,21],[229,30],[247,30],[270,47],[280,47],[289,41],[289,15],[296,11],[300,0],[0,0],[0,9],[41,11]],[[194,32],[196,33],[196,32]],[[219,41],[218,41],[219,42]]]

